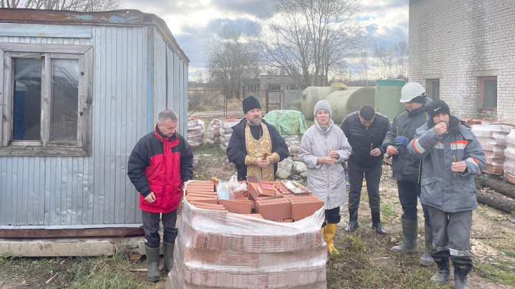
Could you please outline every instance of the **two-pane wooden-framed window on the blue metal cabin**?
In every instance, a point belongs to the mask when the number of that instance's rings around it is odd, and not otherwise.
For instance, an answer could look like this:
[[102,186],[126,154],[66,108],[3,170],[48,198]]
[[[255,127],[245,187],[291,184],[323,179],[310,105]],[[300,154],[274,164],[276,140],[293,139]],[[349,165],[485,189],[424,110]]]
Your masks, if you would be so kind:
[[0,156],[89,156],[92,47],[0,42],[0,65]]

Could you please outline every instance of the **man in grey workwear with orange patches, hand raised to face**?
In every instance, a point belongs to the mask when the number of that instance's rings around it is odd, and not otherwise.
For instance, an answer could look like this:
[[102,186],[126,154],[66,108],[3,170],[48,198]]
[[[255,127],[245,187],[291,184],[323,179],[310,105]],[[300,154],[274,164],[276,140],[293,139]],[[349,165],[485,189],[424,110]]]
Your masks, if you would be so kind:
[[484,153],[470,126],[450,115],[441,100],[427,108],[429,120],[420,126],[408,150],[422,158],[420,202],[427,206],[433,227],[434,258],[438,271],[431,280],[443,285],[454,266],[454,288],[468,289],[472,269],[470,229],[477,208],[475,176],[484,169]]

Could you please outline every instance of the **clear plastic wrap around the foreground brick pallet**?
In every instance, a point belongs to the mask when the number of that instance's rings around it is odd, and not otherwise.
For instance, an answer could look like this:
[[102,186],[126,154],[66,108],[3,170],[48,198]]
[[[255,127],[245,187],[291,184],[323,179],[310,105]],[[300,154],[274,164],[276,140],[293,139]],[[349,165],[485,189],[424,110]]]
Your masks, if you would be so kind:
[[[187,184],[188,185],[188,184]],[[182,204],[166,288],[326,288],[324,208],[282,223]]]

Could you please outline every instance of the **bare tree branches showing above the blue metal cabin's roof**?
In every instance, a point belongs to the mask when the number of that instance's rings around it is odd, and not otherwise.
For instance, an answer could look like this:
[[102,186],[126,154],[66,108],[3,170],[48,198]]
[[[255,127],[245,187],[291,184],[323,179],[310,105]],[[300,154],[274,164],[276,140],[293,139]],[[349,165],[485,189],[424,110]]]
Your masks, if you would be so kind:
[[120,0],[0,0],[1,8],[96,12],[120,8]]

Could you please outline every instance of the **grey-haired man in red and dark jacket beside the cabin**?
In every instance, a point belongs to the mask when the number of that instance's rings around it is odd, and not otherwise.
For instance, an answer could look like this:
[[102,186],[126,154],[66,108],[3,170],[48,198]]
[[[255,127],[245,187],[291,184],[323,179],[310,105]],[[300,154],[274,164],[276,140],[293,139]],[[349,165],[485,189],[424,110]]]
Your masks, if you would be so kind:
[[127,175],[140,192],[139,207],[145,231],[147,279],[159,281],[159,219],[163,223],[164,270],[173,266],[175,222],[182,198],[182,185],[193,179],[193,154],[188,142],[177,133],[173,110],[159,113],[152,133],[136,143],[129,157]]

